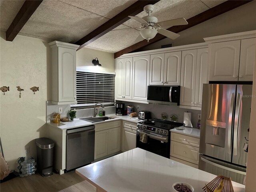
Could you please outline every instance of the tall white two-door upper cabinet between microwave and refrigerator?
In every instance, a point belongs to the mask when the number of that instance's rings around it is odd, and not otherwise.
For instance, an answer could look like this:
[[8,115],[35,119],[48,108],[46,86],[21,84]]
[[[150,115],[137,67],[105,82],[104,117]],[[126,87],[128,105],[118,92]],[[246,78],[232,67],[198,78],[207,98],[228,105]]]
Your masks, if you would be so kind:
[[207,69],[208,48],[182,51],[180,107],[200,110]]

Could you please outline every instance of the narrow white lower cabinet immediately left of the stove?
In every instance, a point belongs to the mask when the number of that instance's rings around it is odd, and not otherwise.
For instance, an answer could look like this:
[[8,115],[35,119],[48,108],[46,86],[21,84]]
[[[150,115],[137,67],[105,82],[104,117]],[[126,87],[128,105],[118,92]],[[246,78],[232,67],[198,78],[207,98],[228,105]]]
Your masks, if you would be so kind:
[[123,121],[122,152],[136,148],[136,123]]

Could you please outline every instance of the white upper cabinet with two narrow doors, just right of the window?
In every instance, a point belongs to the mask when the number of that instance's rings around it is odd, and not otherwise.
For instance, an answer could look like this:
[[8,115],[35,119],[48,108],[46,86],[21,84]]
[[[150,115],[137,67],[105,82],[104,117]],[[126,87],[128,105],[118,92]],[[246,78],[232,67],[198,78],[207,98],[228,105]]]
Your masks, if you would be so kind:
[[116,60],[116,98],[132,99],[132,57]]

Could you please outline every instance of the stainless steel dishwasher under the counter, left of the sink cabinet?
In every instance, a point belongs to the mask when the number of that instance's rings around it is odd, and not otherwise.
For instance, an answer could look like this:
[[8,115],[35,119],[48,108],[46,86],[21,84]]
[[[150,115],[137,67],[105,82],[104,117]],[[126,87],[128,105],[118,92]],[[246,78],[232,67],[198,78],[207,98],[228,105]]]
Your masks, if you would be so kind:
[[66,133],[66,170],[93,162],[95,126],[69,129]]

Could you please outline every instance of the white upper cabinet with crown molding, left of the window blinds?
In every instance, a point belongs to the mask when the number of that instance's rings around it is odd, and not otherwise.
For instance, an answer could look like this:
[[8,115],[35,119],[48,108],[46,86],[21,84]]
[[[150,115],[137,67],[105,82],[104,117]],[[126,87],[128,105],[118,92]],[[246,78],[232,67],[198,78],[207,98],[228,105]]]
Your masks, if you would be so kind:
[[49,46],[52,49],[52,104],[75,104],[79,45],[54,41]]

